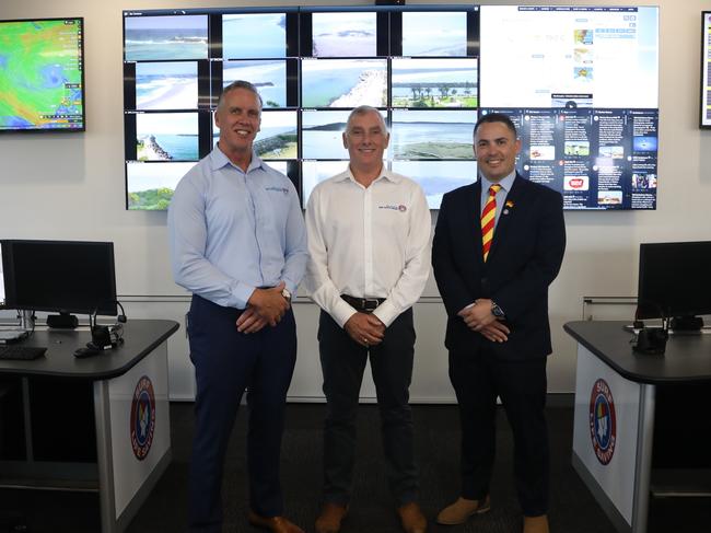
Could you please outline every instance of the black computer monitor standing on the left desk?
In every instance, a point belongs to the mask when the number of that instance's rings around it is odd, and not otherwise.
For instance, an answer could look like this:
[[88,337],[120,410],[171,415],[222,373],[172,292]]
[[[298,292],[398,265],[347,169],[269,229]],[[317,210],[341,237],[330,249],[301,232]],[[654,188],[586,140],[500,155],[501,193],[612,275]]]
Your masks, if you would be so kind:
[[48,324],[74,327],[71,313],[116,315],[114,243],[0,241],[4,305],[59,312]]

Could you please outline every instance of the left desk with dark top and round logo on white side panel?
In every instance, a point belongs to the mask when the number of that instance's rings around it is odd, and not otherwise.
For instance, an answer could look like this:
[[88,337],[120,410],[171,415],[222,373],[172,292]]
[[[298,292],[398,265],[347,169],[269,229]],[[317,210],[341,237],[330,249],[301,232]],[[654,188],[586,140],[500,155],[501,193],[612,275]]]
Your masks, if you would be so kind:
[[21,429],[3,417],[0,486],[98,491],[102,531],[123,531],[171,462],[166,340],[177,328],[128,321],[124,344],[85,359],[73,352],[88,328],[38,329],[23,343],[45,357],[0,361],[0,380],[18,385],[4,399],[21,406]]

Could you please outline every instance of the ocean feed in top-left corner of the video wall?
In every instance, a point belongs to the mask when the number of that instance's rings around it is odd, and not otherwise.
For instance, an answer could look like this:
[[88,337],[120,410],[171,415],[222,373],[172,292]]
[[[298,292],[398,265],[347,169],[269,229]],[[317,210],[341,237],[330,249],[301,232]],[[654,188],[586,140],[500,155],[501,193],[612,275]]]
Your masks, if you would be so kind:
[[208,16],[124,16],[127,61],[207,59]]

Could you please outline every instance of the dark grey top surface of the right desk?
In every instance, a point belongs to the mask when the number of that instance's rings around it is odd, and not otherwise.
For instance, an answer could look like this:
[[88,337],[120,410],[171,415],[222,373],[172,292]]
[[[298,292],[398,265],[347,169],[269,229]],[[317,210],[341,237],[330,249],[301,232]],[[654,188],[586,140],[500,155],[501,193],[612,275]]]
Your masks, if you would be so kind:
[[639,383],[711,382],[711,335],[671,335],[662,355],[632,351],[626,321],[568,322],[563,329],[620,375]]

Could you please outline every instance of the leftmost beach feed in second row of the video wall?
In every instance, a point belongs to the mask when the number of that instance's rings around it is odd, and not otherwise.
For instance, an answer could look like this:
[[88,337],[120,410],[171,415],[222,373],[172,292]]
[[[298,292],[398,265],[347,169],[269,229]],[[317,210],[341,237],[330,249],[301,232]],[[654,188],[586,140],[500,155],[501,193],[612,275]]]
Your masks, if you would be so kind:
[[136,63],[137,109],[195,109],[197,106],[195,61]]

